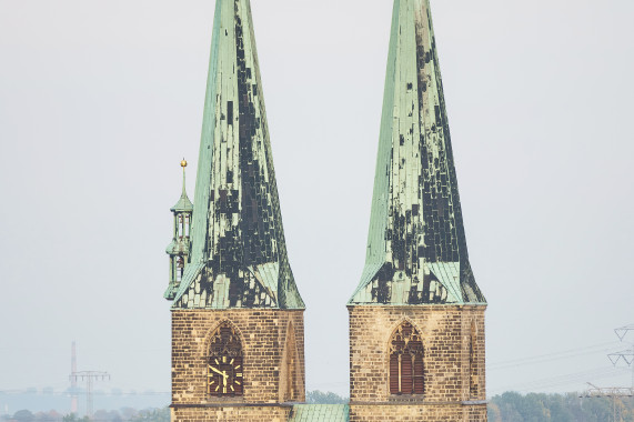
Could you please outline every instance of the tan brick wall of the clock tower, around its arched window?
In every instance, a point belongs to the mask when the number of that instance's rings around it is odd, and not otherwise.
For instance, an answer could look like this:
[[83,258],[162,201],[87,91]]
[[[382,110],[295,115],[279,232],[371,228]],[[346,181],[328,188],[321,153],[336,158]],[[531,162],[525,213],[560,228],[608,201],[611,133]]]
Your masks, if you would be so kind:
[[[243,396],[207,393],[209,341],[224,321],[242,341]],[[249,405],[304,401],[304,380],[302,310],[172,311],[172,421],[285,421],[290,408]]]

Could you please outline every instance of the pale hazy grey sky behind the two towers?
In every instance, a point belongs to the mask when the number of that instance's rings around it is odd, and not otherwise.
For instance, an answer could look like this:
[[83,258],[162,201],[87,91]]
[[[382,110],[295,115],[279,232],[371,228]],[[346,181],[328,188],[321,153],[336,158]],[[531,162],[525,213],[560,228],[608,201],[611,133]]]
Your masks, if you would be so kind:
[[[0,0],[0,391],[170,389],[170,207],[213,0]],[[306,388],[348,394],[390,0],[253,0]],[[432,0],[487,391],[631,382],[634,2]],[[630,334],[634,342],[634,332]]]

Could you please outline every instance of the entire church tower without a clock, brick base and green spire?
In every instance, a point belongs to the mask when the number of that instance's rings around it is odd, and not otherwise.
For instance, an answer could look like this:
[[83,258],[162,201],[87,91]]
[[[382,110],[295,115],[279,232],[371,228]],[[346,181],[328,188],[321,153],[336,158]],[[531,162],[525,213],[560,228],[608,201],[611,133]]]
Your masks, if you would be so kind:
[[395,0],[366,260],[348,302],[350,421],[486,421],[485,308],[429,0]]

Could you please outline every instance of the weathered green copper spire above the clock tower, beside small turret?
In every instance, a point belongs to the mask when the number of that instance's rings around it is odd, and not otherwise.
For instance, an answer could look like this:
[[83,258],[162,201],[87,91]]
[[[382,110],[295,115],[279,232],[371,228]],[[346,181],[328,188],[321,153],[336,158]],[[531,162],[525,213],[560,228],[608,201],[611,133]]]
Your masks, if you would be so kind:
[[303,309],[282,229],[249,0],[217,0],[192,245],[173,308]]

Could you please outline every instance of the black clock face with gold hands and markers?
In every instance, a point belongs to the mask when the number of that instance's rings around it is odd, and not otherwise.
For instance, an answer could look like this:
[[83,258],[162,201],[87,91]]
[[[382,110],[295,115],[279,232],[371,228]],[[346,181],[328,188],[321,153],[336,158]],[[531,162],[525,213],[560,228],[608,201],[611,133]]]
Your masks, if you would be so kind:
[[242,358],[211,356],[208,362],[207,391],[211,395],[242,395]]

